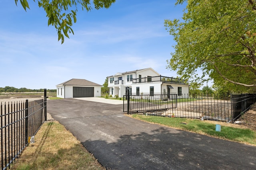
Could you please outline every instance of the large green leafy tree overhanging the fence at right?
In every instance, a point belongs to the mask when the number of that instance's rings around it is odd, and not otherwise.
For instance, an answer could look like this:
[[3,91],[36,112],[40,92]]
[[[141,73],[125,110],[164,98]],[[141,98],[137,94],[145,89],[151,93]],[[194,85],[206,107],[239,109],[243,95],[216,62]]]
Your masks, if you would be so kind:
[[[178,0],[187,2],[182,20],[165,20],[175,51],[168,68],[183,78],[252,91],[256,86],[256,1]],[[203,71],[202,76],[197,70]],[[209,77],[208,77],[209,76]]]

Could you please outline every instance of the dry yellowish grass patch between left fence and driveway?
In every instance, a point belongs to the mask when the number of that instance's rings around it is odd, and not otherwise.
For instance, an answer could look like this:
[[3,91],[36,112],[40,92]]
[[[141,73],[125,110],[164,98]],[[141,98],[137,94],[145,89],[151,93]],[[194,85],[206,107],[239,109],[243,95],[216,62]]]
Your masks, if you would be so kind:
[[58,121],[44,123],[11,169],[105,170]]

